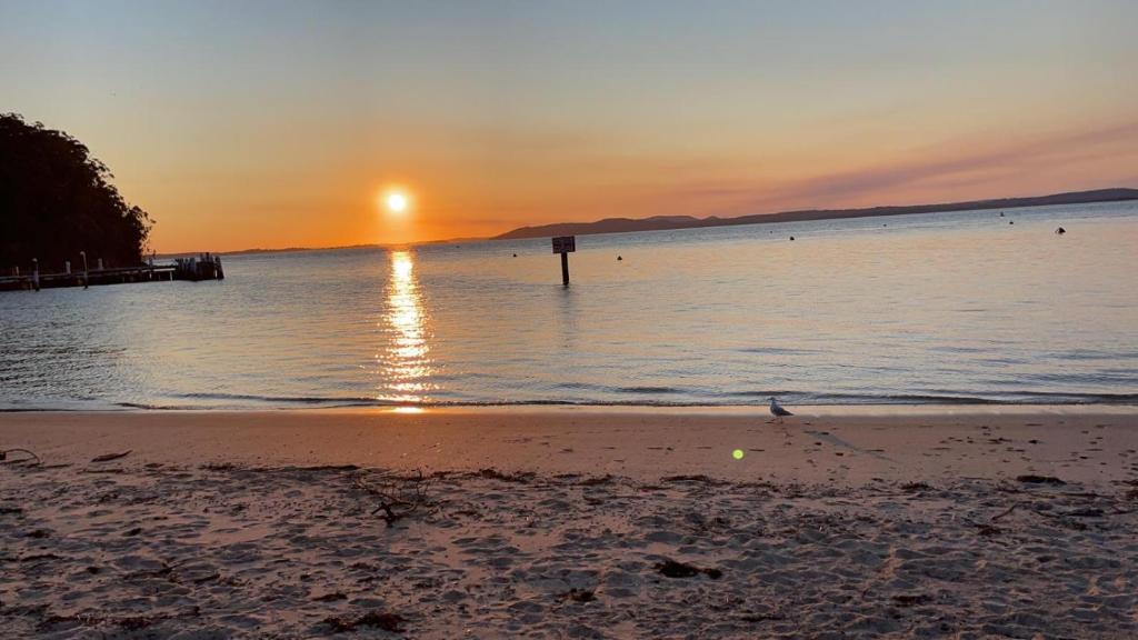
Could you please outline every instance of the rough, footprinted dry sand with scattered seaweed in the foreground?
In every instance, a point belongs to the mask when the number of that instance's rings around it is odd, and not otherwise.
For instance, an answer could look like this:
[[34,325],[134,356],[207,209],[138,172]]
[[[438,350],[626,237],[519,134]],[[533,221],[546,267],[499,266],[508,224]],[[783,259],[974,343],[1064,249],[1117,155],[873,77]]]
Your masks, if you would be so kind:
[[1124,484],[461,471],[429,476],[429,504],[388,526],[360,481],[410,478],[0,468],[0,626],[59,639],[1138,635],[1138,497]]

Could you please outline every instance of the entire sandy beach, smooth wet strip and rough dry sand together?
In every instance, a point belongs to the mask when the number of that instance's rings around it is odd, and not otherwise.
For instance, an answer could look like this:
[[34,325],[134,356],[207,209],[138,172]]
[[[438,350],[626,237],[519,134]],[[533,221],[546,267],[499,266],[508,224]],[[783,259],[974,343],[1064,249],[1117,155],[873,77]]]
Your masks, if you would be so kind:
[[0,463],[0,624],[11,638],[1138,634],[1132,409],[799,413],[0,415],[0,449],[41,460]]

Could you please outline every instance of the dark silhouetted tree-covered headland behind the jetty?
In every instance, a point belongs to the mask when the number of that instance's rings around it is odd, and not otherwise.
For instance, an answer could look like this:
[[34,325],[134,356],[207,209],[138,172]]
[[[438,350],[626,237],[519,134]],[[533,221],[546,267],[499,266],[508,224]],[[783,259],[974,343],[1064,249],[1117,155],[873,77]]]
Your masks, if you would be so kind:
[[63,271],[64,261],[82,269],[134,266],[152,224],[150,216],[123,199],[110,170],[79,140],[63,131],[0,114],[0,273],[32,259],[40,270]]

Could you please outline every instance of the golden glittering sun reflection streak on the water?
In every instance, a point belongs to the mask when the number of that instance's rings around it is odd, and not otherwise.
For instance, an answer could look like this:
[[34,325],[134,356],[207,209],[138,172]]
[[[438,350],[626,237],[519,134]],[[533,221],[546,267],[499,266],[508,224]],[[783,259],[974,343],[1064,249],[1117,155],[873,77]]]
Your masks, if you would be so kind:
[[427,317],[415,279],[414,254],[393,251],[390,255],[387,312],[381,321],[387,346],[376,354],[384,377],[379,400],[418,403],[431,389]]

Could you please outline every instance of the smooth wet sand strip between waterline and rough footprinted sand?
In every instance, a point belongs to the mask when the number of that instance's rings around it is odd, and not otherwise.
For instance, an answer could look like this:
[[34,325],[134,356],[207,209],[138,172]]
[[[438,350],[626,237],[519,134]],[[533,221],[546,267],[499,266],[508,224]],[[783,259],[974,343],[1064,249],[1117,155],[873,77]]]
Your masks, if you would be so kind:
[[[393,470],[579,473],[653,479],[864,484],[1020,474],[1122,481],[1138,410],[1105,407],[447,408],[0,413],[0,449],[81,463],[110,451],[160,463],[355,465]],[[735,451],[743,457],[735,459]]]

